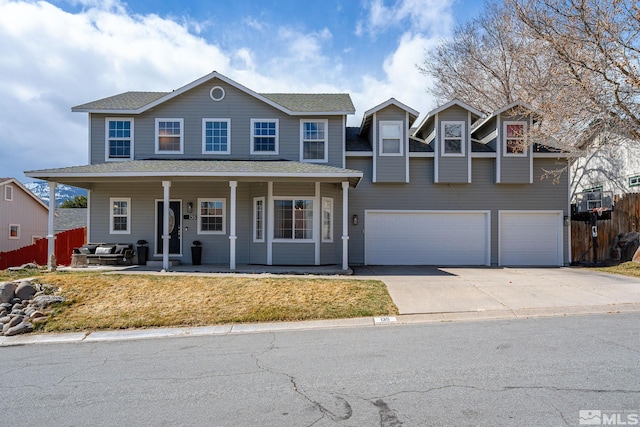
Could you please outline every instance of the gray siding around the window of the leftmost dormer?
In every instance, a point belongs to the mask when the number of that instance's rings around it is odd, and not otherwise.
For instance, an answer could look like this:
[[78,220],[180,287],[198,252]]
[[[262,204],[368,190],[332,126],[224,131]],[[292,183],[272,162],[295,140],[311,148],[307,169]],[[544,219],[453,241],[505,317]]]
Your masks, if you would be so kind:
[[[395,105],[390,105],[376,113],[376,143],[374,158],[376,161],[376,182],[391,183],[391,182],[406,182],[407,173],[407,121],[406,111]],[[380,155],[380,122],[381,121],[401,121],[403,140],[401,141],[402,156],[381,156]]]

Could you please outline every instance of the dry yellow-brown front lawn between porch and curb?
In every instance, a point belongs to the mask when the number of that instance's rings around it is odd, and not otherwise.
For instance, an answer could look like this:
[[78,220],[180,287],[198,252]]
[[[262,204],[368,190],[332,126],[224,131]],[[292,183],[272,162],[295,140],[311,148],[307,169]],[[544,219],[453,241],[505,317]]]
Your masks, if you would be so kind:
[[[1,277],[1,276],[0,276]],[[44,331],[200,326],[397,314],[382,282],[47,273],[68,302]]]

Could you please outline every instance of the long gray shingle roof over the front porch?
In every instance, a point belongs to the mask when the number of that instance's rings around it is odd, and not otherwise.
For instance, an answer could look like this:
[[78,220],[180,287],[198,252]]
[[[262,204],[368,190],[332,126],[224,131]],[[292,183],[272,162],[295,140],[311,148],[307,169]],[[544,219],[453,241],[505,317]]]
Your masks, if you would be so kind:
[[57,169],[27,171],[32,178],[102,177],[255,177],[255,178],[335,178],[354,187],[362,172],[335,166],[288,160],[132,160]]

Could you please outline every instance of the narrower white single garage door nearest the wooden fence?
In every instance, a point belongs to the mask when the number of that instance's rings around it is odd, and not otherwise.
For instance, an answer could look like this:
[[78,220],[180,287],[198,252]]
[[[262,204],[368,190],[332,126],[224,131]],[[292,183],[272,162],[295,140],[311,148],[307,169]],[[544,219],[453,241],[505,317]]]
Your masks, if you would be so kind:
[[499,211],[500,265],[561,266],[562,211]]

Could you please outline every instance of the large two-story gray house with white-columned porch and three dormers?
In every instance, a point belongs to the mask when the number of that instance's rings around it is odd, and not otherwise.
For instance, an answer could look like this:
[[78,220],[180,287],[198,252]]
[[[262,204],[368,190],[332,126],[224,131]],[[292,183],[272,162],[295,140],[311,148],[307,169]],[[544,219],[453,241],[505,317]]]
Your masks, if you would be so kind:
[[[213,72],[83,104],[90,164],[27,172],[89,190],[89,241],[150,257],[266,265],[565,265],[562,153],[527,146],[517,105],[427,115],[390,99],[347,128],[348,94],[260,94]],[[566,158],[560,160],[566,166]]]

